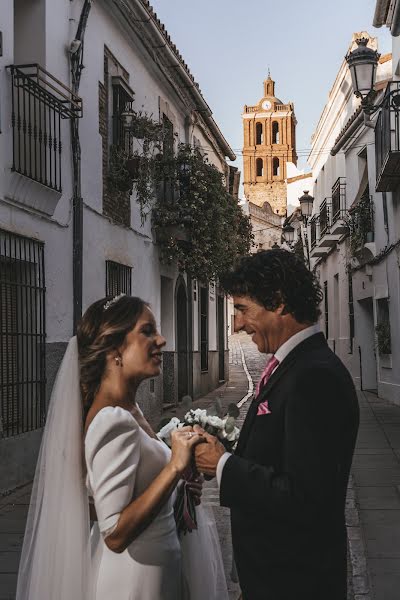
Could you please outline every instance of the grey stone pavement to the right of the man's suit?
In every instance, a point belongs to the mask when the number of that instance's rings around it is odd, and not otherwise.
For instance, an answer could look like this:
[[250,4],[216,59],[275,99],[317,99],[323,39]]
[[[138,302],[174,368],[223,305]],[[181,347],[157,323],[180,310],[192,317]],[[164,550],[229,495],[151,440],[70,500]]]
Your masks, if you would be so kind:
[[368,392],[359,393],[360,430],[353,481],[360,525],[350,547],[358,588],[355,600],[400,598],[400,407]]

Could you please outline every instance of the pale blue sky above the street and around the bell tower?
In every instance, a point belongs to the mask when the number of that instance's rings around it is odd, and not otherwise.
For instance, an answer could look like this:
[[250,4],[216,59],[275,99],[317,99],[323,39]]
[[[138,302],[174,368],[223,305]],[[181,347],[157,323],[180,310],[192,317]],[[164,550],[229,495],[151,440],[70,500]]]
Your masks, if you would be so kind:
[[295,105],[298,166],[308,170],[311,135],[355,31],[391,51],[386,27],[372,26],[376,0],[150,0],[208,102],[241,169],[241,114],[275,94]]

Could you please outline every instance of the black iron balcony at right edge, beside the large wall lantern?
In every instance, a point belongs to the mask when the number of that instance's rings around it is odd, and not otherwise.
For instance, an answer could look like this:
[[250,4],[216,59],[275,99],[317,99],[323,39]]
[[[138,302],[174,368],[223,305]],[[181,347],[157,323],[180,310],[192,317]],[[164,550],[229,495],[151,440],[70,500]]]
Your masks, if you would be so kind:
[[400,82],[391,81],[375,127],[376,191],[392,192],[400,184]]

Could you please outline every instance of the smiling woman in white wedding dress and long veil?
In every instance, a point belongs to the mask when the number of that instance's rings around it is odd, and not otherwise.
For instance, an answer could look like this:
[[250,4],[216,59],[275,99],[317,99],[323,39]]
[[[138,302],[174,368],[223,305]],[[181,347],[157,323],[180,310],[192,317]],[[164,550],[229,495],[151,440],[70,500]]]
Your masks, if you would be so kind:
[[174,520],[175,488],[205,439],[185,427],[170,450],[135,401],[164,345],[139,298],[105,298],[83,316],[51,396],[17,600],[228,598],[215,522],[199,506],[197,531],[179,540]]

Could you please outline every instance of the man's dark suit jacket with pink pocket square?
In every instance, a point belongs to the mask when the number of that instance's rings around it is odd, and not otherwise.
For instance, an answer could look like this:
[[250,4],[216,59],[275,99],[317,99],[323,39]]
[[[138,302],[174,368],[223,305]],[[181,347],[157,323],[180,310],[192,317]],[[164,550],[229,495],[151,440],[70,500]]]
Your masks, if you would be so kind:
[[[258,416],[266,399],[271,413]],[[322,333],[296,346],[253,400],[220,486],[244,600],[346,600],[358,422],[352,379]]]

